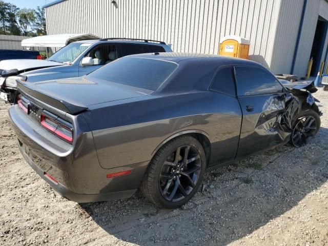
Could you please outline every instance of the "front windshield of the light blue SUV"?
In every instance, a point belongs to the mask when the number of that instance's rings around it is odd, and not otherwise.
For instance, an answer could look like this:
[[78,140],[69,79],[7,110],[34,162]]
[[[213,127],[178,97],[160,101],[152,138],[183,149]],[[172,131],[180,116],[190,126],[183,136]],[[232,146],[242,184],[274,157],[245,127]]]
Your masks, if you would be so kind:
[[88,43],[71,43],[58,50],[48,60],[58,61],[59,63],[73,62],[90,45]]

